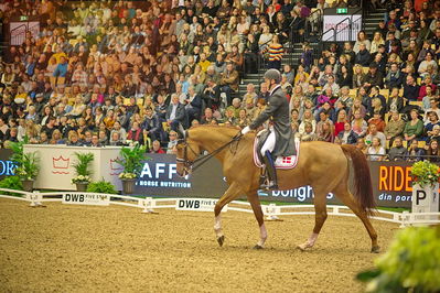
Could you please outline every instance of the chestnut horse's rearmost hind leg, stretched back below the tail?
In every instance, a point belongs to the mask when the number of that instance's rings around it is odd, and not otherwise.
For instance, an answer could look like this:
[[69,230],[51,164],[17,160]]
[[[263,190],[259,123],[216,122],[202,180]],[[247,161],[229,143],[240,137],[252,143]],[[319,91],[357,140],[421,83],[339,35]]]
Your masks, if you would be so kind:
[[380,251],[380,248],[377,245],[377,232],[373,228],[373,225],[369,221],[367,214],[362,210],[359,204],[356,202],[353,194],[348,191],[348,187],[341,186],[335,189],[334,193],[341,199],[341,202],[350,207],[350,209],[352,209],[353,213],[362,220],[366,230],[368,231],[369,238],[372,239],[372,252],[378,253]]

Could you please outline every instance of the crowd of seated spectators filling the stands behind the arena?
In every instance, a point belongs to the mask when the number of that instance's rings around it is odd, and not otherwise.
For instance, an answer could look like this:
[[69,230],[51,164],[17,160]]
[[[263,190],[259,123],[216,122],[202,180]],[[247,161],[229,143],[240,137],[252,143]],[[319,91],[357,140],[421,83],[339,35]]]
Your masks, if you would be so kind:
[[[374,34],[314,58],[304,31],[325,0],[3,1],[3,20],[41,26],[1,56],[0,141],[172,152],[182,129],[255,119],[268,88],[239,84],[266,59],[282,73],[301,140],[356,144],[376,161],[440,161],[440,1],[367,2],[387,11]],[[282,57],[298,41],[297,68]]]

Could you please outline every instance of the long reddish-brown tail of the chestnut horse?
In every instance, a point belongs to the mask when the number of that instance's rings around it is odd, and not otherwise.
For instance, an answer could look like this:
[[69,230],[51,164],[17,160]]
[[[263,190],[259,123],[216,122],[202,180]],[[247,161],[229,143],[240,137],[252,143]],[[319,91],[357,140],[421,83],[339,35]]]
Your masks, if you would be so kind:
[[354,169],[354,195],[361,204],[362,209],[368,215],[373,215],[376,200],[373,196],[372,176],[365,154],[350,144],[341,145],[342,151],[347,158],[352,159]]

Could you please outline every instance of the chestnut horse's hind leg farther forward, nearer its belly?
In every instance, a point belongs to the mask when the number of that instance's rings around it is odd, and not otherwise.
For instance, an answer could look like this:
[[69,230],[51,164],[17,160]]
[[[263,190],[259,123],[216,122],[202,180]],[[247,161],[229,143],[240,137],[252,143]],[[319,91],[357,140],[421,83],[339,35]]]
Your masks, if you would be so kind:
[[314,213],[313,232],[305,242],[298,246],[298,248],[302,251],[314,246],[318,235],[320,234],[321,228],[326,220],[326,193],[324,191],[314,191]]

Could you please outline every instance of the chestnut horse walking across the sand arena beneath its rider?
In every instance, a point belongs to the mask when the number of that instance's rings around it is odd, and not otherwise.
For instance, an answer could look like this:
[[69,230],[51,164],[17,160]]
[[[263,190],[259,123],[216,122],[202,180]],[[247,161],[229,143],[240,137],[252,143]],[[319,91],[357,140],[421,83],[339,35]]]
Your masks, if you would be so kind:
[[[236,128],[201,126],[185,132],[176,145],[176,172],[184,176],[191,173],[202,151],[214,155],[223,165],[223,173],[229,185],[217,202],[214,230],[219,246],[224,235],[221,225],[222,208],[246,194],[260,228],[260,239],[256,249],[264,248],[267,230],[264,214],[257,195],[260,170],[254,163],[255,132],[240,137]],[[305,250],[313,247],[318,235],[328,217],[326,195],[333,193],[362,220],[372,239],[372,252],[378,252],[377,234],[368,215],[375,207],[369,169],[365,155],[353,145],[339,145],[313,141],[300,144],[298,164],[291,170],[277,170],[279,189],[292,189],[310,185],[314,192],[315,223],[309,239],[298,248]],[[203,161],[203,160],[202,160]],[[351,162],[354,170],[354,196],[348,188]]]

